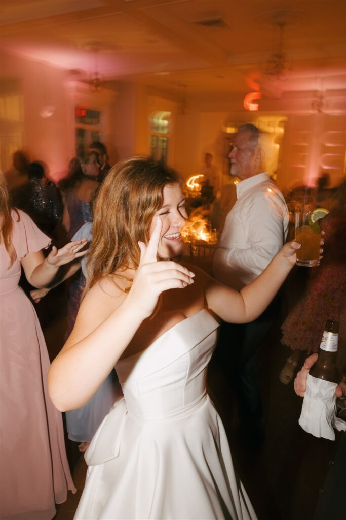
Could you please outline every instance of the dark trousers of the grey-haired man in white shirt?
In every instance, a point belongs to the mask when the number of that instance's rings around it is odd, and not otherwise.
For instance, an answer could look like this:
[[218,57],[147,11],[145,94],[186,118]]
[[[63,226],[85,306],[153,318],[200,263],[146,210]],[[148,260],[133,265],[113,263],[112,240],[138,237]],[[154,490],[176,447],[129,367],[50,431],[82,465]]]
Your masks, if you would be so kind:
[[250,323],[223,322],[220,329],[215,362],[238,398],[239,418],[245,428],[261,430],[264,423],[258,350],[271,328],[273,306]]

